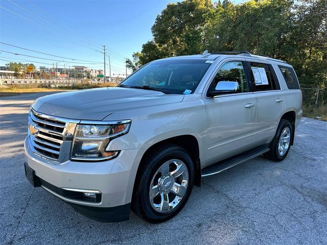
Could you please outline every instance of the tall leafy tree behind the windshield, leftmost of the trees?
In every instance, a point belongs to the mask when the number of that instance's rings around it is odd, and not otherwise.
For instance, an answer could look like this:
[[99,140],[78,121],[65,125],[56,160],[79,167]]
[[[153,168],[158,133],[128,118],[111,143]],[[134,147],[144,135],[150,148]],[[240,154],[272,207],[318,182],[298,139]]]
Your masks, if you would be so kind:
[[205,13],[213,8],[211,0],[186,0],[168,4],[151,28],[153,40],[133,54],[134,65],[154,59],[203,52]]

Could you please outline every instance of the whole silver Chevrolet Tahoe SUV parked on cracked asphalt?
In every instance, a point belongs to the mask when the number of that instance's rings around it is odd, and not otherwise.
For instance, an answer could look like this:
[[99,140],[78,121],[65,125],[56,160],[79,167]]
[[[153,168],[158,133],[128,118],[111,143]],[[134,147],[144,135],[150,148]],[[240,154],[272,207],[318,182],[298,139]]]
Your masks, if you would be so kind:
[[259,155],[283,160],[302,95],[291,65],[248,52],[173,57],[117,87],[40,97],[25,171],[83,215],[152,223],[175,216],[193,185]]

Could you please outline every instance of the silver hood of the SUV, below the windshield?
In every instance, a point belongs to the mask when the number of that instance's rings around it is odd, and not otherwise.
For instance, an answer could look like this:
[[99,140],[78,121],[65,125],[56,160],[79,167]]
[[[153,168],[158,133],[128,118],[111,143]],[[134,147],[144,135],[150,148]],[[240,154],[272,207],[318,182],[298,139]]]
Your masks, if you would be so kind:
[[[37,112],[58,117],[102,120],[115,111],[178,103],[182,100],[182,94],[106,87],[47,95],[37,99],[32,108]],[[128,115],[122,119],[128,119]]]

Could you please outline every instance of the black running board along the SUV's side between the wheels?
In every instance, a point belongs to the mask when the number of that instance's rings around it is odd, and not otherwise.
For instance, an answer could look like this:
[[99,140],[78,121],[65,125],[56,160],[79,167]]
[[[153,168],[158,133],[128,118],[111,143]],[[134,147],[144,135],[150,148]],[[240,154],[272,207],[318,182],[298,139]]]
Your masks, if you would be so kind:
[[269,150],[269,144],[265,144],[249,151],[243,152],[241,154],[238,154],[236,156],[222,160],[220,162],[217,162],[213,165],[207,166],[202,169],[202,177],[219,174],[222,171],[227,170],[228,168],[239,165],[252,158],[258,157],[264,154],[265,152],[268,152]]

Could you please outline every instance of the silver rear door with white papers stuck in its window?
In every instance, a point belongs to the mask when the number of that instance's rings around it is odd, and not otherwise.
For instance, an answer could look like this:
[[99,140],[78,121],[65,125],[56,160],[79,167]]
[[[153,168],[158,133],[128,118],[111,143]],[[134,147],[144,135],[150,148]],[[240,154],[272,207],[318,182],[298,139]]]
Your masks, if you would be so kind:
[[275,135],[279,118],[285,110],[284,93],[271,64],[248,62],[256,98],[254,144],[269,143]]

